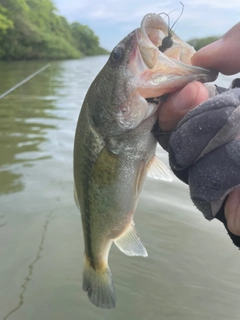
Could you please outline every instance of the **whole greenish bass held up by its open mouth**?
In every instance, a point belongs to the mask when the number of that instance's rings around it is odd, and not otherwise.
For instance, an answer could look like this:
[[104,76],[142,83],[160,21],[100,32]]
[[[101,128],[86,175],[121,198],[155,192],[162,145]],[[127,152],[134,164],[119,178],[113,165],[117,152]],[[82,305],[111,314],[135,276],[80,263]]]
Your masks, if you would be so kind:
[[191,65],[195,50],[171,33],[161,14],[147,14],[141,26],[112,50],[92,82],[74,141],[74,197],[84,233],[83,290],[97,307],[116,307],[108,265],[114,243],[128,256],[147,256],[133,215],[146,176],[171,180],[156,157],[151,130],[159,99],[188,82],[216,79],[216,72]]

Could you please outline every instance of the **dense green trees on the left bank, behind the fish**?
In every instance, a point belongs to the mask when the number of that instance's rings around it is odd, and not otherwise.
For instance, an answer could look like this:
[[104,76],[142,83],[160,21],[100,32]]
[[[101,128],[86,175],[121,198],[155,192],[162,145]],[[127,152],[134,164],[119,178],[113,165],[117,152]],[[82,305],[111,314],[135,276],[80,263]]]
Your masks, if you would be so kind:
[[106,54],[87,26],[70,25],[51,0],[0,0],[0,59]]

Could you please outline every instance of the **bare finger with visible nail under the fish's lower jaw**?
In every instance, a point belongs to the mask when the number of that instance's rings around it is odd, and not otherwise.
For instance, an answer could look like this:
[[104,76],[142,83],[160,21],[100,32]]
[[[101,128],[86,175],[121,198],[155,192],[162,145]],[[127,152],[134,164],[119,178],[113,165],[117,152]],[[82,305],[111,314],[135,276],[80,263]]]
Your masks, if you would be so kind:
[[160,107],[159,127],[163,131],[172,131],[185,114],[208,98],[208,90],[202,83],[188,83],[182,90],[171,94]]

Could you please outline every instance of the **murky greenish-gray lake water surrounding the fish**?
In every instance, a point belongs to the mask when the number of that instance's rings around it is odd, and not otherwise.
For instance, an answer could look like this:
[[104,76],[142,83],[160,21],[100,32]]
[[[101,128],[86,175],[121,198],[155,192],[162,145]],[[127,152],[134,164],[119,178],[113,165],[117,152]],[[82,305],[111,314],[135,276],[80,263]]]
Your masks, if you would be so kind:
[[[111,249],[117,308],[98,309],[82,291],[73,141],[106,59],[53,62],[0,100],[0,319],[239,320],[240,253],[177,179],[148,179],[142,192],[135,222],[149,257]],[[0,94],[44,64],[1,62]],[[157,153],[167,163],[160,147]]]

